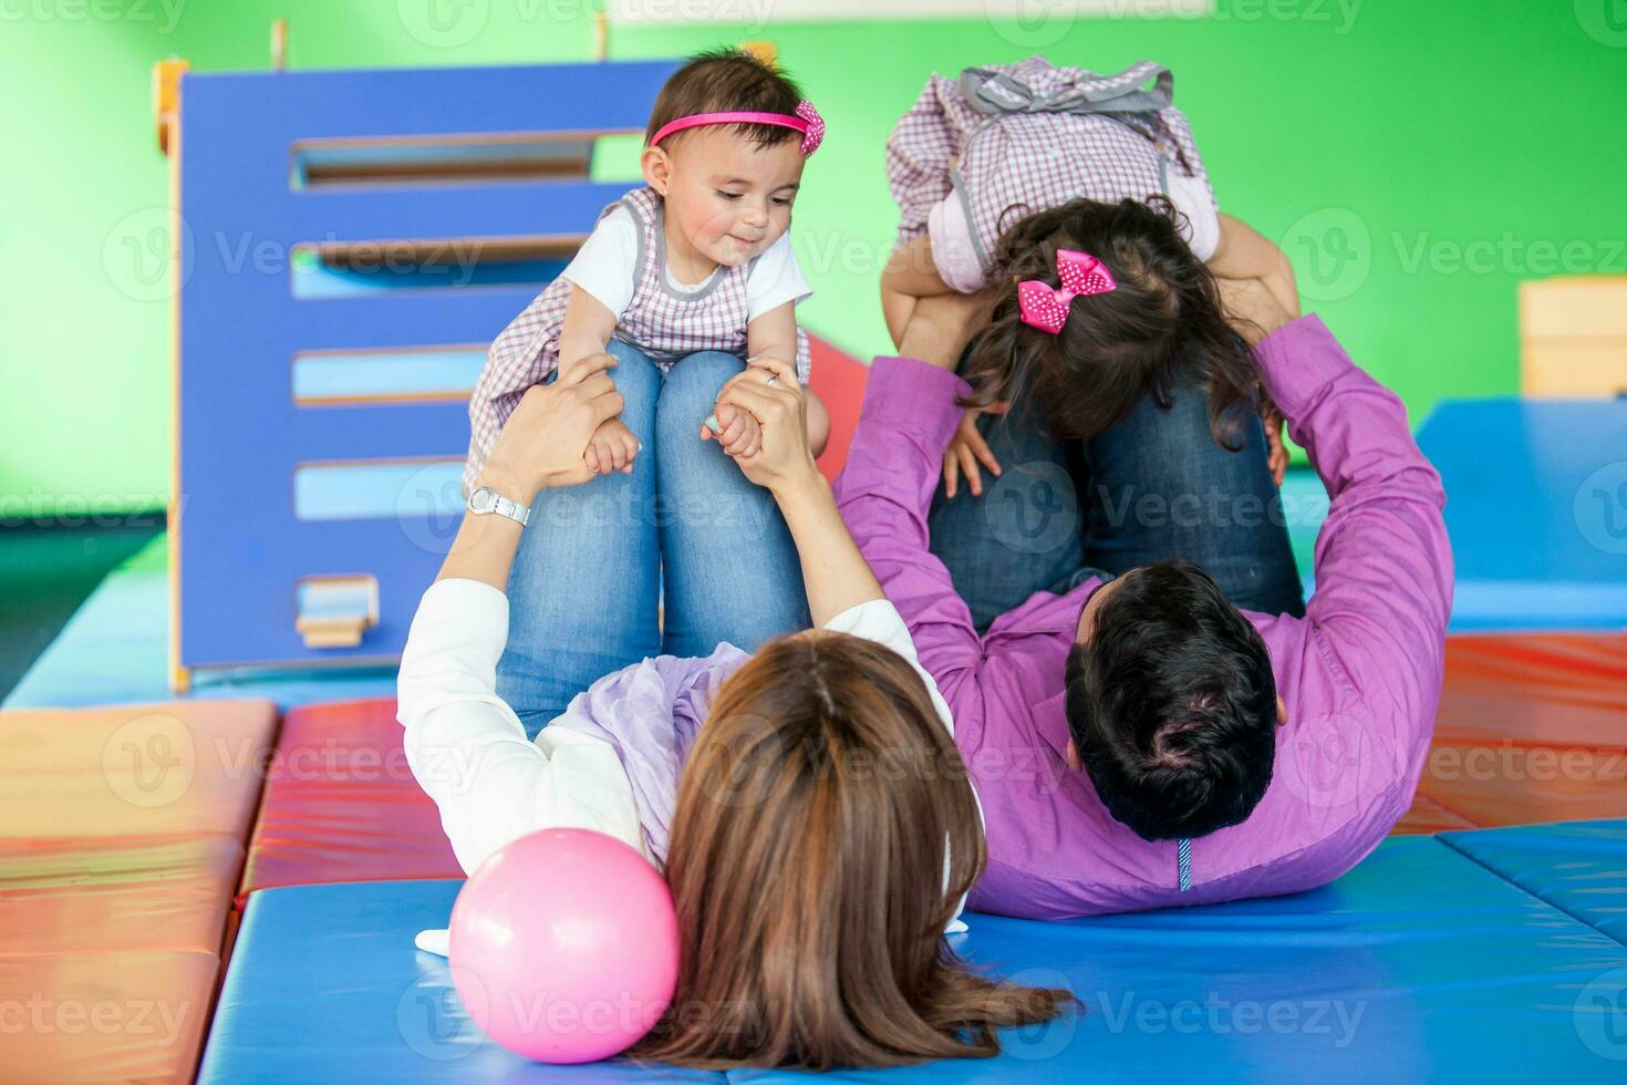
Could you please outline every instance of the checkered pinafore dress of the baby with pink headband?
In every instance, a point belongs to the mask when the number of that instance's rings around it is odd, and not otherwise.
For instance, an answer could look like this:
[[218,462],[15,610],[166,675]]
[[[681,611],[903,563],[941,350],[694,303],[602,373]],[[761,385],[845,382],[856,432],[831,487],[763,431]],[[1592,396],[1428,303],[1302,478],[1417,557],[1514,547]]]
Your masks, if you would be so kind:
[[[633,272],[633,299],[617,320],[615,338],[648,355],[662,373],[678,359],[703,350],[722,350],[745,358],[748,317],[745,285],[757,259],[735,267],[719,267],[695,291],[680,291],[667,281],[667,234],[664,202],[654,189],[636,189],[600,211],[599,218],[625,207],[638,226],[638,265]],[[491,455],[503,423],[534,384],[547,381],[560,366],[560,330],[571,283],[556,278],[491,343],[485,369],[469,397],[469,460],[464,464],[464,493]],[[809,379],[807,333],[797,329],[797,377]],[[612,373],[612,379],[615,374]]]

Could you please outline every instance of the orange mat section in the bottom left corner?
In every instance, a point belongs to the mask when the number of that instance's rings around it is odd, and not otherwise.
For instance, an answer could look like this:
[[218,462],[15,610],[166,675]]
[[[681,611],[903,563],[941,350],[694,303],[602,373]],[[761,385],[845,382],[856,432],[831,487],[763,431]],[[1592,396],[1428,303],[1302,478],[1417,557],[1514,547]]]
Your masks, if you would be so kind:
[[0,1082],[190,1082],[213,953],[0,956]]

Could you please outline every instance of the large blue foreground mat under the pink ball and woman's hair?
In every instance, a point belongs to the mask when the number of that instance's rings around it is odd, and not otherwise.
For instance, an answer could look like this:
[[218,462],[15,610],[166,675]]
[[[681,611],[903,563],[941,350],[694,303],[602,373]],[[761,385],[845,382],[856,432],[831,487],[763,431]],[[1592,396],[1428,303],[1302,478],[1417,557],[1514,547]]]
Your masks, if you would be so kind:
[[[417,930],[446,922],[457,887],[255,893],[200,1080],[591,1082],[639,1072],[626,1062],[532,1065],[482,1041],[444,961],[412,947]],[[1293,896],[1077,922],[970,921],[965,956],[1067,986],[1084,1015],[1007,1035],[994,1061],[828,1077],[1601,1082],[1620,1080],[1627,1059],[1627,947],[1433,838],[1385,841],[1344,878]],[[704,1077],[721,1075],[682,1075]]]

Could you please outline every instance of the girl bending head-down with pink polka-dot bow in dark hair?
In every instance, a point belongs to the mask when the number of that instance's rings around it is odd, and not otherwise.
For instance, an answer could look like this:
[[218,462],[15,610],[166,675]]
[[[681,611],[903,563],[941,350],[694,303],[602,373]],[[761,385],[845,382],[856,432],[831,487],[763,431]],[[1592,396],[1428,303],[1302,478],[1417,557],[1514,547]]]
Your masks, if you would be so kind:
[[[945,454],[949,496],[962,473],[981,493],[978,462],[999,473],[978,429],[984,408],[1023,392],[1045,403],[1053,434],[1090,438],[1194,366],[1210,389],[1215,438],[1232,446],[1243,408],[1258,403],[1272,470],[1287,465],[1280,421],[1215,280],[1263,280],[1298,312],[1293,273],[1274,244],[1219,213],[1171,102],[1173,78],[1152,62],[1098,75],[1030,57],[958,80],[934,75],[893,129],[887,174],[901,218],[882,277],[893,342],[921,298],[988,288],[992,301],[963,364],[975,395]],[[1085,254],[1098,286],[1059,290],[1054,329],[1025,320],[1020,283],[1067,288],[1059,259],[1072,254]]]

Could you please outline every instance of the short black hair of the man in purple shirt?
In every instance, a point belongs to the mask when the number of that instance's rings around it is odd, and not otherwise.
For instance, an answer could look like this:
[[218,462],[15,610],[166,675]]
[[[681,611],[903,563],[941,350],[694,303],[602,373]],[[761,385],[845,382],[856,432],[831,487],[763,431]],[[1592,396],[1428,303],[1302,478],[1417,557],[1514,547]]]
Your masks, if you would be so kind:
[[1067,729],[1108,812],[1144,839],[1202,836],[1266,794],[1266,643],[1189,561],[1126,573],[1067,657]]

